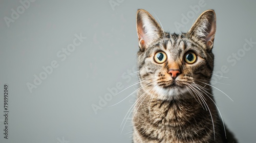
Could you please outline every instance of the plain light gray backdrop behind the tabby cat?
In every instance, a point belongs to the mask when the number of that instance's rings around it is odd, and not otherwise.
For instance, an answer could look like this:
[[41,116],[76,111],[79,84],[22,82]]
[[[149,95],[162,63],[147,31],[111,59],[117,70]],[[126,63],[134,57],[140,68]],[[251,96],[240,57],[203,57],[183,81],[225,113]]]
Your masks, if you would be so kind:
[[[110,2],[116,6],[112,8]],[[131,73],[137,70],[139,8],[158,17],[171,33],[187,32],[200,13],[216,11],[214,72],[228,78],[214,76],[212,84],[233,100],[215,89],[216,102],[240,142],[255,142],[256,44],[247,51],[243,45],[245,39],[256,41],[256,2],[205,0],[204,7],[193,12],[191,6],[199,2],[37,0],[22,11],[19,1],[1,1],[0,142],[131,142],[131,115],[125,115],[135,101],[131,93],[137,86],[125,88],[138,81]],[[12,9],[17,12],[17,8],[21,14],[8,27],[4,17],[12,18]],[[183,14],[193,13],[195,19],[182,23]],[[184,27],[177,28],[175,22]],[[80,33],[86,39],[61,61],[57,53]],[[235,59],[232,53],[240,56]],[[27,83],[34,84],[34,75],[39,76],[44,72],[42,66],[54,60],[58,67],[30,92]],[[223,66],[227,72],[221,71]],[[9,85],[9,139],[3,134],[4,84]],[[108,88],[125,90],[110,96]],[[101,107],[104,96],[108,101]],[[94,112],[94,105],[101,109]]]

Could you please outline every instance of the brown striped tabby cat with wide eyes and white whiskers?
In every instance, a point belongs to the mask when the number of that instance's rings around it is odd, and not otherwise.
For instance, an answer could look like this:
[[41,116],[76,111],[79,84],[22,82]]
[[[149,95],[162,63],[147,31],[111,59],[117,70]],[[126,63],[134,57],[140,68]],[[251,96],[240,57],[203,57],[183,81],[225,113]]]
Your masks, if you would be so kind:
[[137,11],[138,97],[133,142],[237,142],[212,96],[216,14],[203,12],[187,33],[164,32]]

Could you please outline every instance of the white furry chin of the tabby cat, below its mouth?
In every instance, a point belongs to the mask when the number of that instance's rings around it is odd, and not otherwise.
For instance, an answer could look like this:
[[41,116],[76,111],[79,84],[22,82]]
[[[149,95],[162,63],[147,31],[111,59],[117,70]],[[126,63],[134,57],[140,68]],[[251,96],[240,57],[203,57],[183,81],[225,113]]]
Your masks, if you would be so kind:
[[189,98],[187,96],[189,91],[187,88],[181,86],[173,86],[172,88],[161,88],[159,86],[155,86],[154,90],[158,94],[159,100],[178,100]]

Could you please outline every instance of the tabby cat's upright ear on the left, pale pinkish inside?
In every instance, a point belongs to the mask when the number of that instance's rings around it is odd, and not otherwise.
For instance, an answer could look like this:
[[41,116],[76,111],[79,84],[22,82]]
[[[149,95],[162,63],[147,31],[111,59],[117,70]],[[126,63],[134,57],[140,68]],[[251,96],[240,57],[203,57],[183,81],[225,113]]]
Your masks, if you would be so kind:
[[161,37],[162,29],[153,16],[143,9],[137,11],[136,23],[140,50],[144,51],[148,45]]

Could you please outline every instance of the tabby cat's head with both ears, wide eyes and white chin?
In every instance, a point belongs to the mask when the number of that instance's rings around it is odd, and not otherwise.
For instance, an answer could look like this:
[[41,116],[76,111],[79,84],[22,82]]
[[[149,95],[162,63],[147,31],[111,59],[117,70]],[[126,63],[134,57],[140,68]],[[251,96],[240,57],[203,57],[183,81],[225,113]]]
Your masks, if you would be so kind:
[[[214,10],[203,12],[187,33],[163,31],[153,16],[137,11],[138,69],[141,88],[158,99],[189,98],[210,83],[214,68]],[[190,93],[190,94],[189,94]]]

